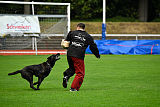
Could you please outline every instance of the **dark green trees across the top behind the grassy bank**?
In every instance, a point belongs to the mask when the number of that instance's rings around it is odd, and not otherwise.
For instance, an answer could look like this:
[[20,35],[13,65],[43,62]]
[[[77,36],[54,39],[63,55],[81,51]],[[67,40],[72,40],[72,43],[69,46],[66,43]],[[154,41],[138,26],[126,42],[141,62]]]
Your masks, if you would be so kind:
[[[31,0],[19,0],[31,1]],[[102,21],[103,0],[34,0],[35,2],[71,3],[71,20]],[[140,2],[142,1],[142,2]],[[147,7],[143,8],[143,3]],[[3,5],[1,6],[3,7]],[[18,7],[15,7],[18,8]],[[143,11],[147,11],[143,16]],[[141,16],[142,15],[142,16]],[[160,21],[160,0],[106,0],[107,21]],[[143,21],[143,20],[142,20]]]

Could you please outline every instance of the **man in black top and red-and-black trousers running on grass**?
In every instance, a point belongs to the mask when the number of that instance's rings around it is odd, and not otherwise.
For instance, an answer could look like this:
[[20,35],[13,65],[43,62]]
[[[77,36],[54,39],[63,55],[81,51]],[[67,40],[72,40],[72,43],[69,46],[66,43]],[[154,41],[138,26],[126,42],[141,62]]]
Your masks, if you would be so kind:
[[79,91],[85,75],[84,57],[86,48],[90,46],[90,50],[97,58],[100,58],[99,50],[93,38],[85,31],[85,24],[83,23],[77,25],[77,30],[69,32],[65,41],[70,42],[67,50],[69,68],[63,73],[63,87],[67,88],[69,78],[76,74],[70,91]]

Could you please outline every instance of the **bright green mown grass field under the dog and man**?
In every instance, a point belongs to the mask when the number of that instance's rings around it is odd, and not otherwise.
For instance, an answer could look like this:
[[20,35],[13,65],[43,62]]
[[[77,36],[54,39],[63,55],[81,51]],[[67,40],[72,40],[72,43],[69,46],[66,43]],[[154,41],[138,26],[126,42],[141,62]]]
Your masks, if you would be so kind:
[[[46,61],[47,55],[0,56],[0,107],[160,107],[160,55],[93,55],[85,58],[86,75],[79,92],[62,87],[68,67],[61,55],[39,91],[20,74],[27,65]],[[37,78],[34,78],[36,81]]]

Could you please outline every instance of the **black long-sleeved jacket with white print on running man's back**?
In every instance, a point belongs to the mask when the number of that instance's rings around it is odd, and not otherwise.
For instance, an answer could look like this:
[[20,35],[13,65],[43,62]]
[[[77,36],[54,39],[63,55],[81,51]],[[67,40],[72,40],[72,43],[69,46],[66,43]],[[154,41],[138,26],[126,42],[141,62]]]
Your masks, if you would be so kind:
[[97,58],[100,57],[97,45],[94,43],[93,38],[86,31],[75,30],[69,32],[66,40],[70,41],[67,56],[84,59],[86,48],[88,45],[90,45],[90,50],[92,53]]

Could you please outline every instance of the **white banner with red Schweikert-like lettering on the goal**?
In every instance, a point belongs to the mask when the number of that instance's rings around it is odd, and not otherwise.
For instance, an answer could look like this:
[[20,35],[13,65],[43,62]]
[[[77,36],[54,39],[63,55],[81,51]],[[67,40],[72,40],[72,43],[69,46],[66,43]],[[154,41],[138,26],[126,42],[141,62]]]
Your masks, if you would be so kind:
[[0,16],[0,33],[40,33],[37,16]]

